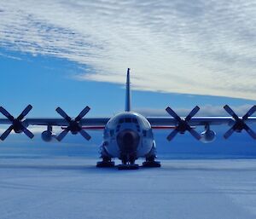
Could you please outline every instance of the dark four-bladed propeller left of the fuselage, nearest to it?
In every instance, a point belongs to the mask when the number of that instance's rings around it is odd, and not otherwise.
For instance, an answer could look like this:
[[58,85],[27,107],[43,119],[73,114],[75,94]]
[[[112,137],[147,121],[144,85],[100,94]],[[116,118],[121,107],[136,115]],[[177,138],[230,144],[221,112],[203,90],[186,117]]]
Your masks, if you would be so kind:
[[73,135],[76,135],[78,132],[87,140],[90,140],[90,135],[83,130],[82,126],[79,124],[80,120],[84,118],[84,116],[87,114],[87,112],[90,111],[90,107],[85,107],[76,118],[70,118],[66,112],[64,112],[61,107],[56,108],[56,112],[58,112],[61,117],[65,118],[68,122],[68,126],[65,130],[61,132],[60,135],[56,137],[58,141],[61,141],[69,131]]

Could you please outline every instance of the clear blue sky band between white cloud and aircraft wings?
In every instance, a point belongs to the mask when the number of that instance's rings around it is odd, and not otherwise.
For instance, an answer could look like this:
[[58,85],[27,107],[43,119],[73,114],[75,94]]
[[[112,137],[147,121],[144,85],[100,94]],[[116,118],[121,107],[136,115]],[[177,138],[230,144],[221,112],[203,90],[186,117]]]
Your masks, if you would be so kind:
[[[112,116],[124,110],[125,71],[123,83],[77,80],[76,75],[86,72],[86,65],[48,55],[30,55],[7,49],[0,50],[0,91],[2,106],[19,114],[23,107],[32,104],[32,117],[55,117],[56,107],[63,107],[75,116],[86,105],[90,116]],[[131,71],[132,77],[136,72]],[[133,90],[132,108],[146,115],[165,115],[171,106],[185,115],[199,105],[205,115],[224,115],[224,104],[244,112],[254,101],[211,95],[182,95],[154,91]],[[213,110],[212,110],[213,109]],[[207,111],[208,110],[208,111]]]

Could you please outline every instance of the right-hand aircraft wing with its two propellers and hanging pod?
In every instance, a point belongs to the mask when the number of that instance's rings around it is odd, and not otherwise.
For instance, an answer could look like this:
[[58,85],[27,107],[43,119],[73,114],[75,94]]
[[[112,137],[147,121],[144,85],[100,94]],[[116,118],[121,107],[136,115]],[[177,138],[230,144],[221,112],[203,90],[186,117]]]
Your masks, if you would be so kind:
[[[224,110],[230,114],[231,117],[195,117],[195,114],[200,110],[200,107],[194,107],[188,116],[181,118],[176,112],[172,110],[171,107],[166,108],[166,112],[170,114],[168,117],[148,117],[148,122],[152,125],[153,129],[173,129],[172,132],[167,136],[167,140],[171,141],[177,133],[185,133],[189,131],[191,135],[197,140],[202,138],[207,138],[207,141],[212,141],[214,131],[210,130],[210,125],[226,124],[230,125],[230,129],[224,134],[224,138],[227,139],[234,131],[241,132],[241,130],[246,130],[248,135],[251,135],[253,139],[256,139],[256,133],[247,125],[247,123],[255,123],[256,117],[252,117],[253,113],[256,112],[256,106],[251,107],[248,112],[243,117],[238,117],[236,112],[234,112],[228,105],[224,106]],[[174,127],[173,127],[174,125]],[[205,132],[199,134],[195,127],[199,125],[205,126]],[[210,136],[210,137],[209,137]]]

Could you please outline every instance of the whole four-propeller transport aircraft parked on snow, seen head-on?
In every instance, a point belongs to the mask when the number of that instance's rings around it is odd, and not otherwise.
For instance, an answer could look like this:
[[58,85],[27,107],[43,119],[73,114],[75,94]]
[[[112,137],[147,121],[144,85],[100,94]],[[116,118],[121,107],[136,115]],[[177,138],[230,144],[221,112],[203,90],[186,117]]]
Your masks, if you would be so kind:
[[[251,117],[256,111],[256,106],[251,107],[243,117],[238,117],[227,105],[224,106],[224,109],[230,114],[230,117],[194,117],[200,110],[197,106],[185,118],[179,117],[171,107],[166,108],[166,112],[171,117],[144,117],[131,111],[129,68],[127,70],[125,98],[125,112],[120,112],[112,118],[84,118],[90,111],[90,107],[85,107],[76,118],[70,118],[61,107],[57,107],[56,112],[62,118],[25,118],[32,109],[31,105],[28,105],[17,118],[14,118],[7,110],[0,107],[0,112],[6,117],[0,118],[0,124],[10,124],[0,139],[4,141],[12,130],[15,133],[23,132],[32,138],[34,135],[30,130],[27,130],[29,125],[46,126],[46,130],[42,133],[44,141],[54,139],[61,141],[68,132],[73,135],[80,133],[89,141],[90,135],[85,130],[103,130],[103,141],[100,146],[102,161],[97,162],[96,166],[113,167],[113,158],[119,158],[122,161],[122,164],[119,164],[120,170],[137,169],[138,164],[135,164],[137,158],[145,158],[144,167],[160,167],[160,162],[155,161],[154,129],[172,130],[171,134],[167,136],[168,141],[172,141],[177,133],[184,134],[189,131],[196,140],[207,143],[214,141],[216,136],[210,125],[227,124],[230,125],[230,129],[224,134],[225,139],[229,138],[234,131],[241,132],[241,130],[246,130],[253,139],[256,139],[256,133],[247,126],[247,123],[256,122],[256,117]],[[201,125],[205,127],[205,130],[199,134],[195,127]],[[63,130],[61,134],[55,135],[53,126],[61,126]]]

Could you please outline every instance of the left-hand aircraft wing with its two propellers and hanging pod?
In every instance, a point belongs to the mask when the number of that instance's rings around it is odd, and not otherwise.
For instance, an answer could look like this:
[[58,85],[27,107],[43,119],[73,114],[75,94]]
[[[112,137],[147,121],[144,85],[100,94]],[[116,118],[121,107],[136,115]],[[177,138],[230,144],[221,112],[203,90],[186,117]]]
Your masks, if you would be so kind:
[[[45,125],[47,130],[42,133],[44,141],[50,141],[54,135],[52,132],[53,126],[64,126],[60,135],[56,136],[58,141],[61,141],[70,131],[73,134],[80,133],[86,140],[90,140],[90,135],[85,130],[99,130],[104,129],[108,123],[109,118],[84,118],[90,107],[84,107],[76,118],[70,118],[61,107],[56,108],[56,112],[62,118],[25,118],[27,113],[32,110],[32,106],[28,105],[20,115],[15,118],[6,109],[0,107],[0,112],[6,118],[0,118],[0,124],[10,124],[9,128],[0,136],[0,140],[4,141],[8,135],[14,130],[16,133],[23,132],[29,138],[32,138],[33,133],[27,129],[29,125]],[[84,126],[85,125],[85,126]]]

